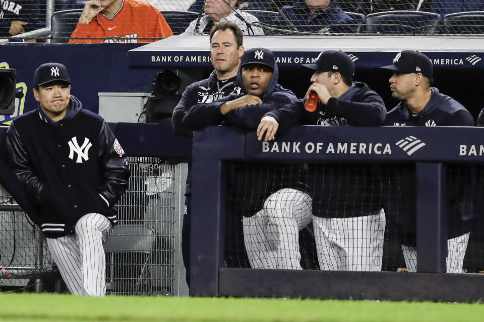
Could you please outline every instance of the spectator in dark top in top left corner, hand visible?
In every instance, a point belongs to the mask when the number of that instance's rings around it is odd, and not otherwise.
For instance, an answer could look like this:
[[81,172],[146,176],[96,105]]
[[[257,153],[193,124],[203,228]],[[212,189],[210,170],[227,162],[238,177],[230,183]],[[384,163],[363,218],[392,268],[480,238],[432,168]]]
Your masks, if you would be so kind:
[[[37,0],[2,0],[0,4],[0,37],[23,34],[39,27],[40,4]],[[35,42],[35,39],[26,40]]]

